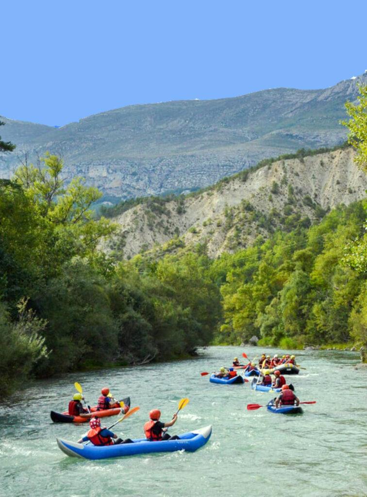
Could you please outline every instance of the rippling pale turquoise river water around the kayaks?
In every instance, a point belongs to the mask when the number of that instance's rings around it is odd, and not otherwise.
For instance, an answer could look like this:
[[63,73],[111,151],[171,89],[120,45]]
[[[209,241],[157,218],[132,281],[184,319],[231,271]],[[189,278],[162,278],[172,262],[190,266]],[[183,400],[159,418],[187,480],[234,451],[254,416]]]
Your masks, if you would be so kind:
[[[271,394],[244,385],[215,385],[201,371],[230,365],[258,348],[209,347],[195,360],[73,373],[37,381],[12,409],[0,415],[1,496],[219,497],[225,495],[367,496],[367,371],[352,352],[302,351],[306,368],[291,377],[300,400],[315,400],[304,414],[285,416],[248,403],[266,404]],[[267,353],[275,353],[267,349]],[[290,377],[288,377],[290,378]],[[194,453],[139,455],[87,461],[70,458],[56,437],[77,440],[87,424],[54,424],[51,410],[65,410],[74,382],[89,404],[102,386],[118,398],[131,397],[140,411],[118,424],[118,435],[141,437],[152,408],[168,421],[178,401],[190,402],[170,428],[180,434],[213,425],[209,442]],[[289,382],[289,381],[288,381]],[[107,425],[116,417],[105,418]]]

